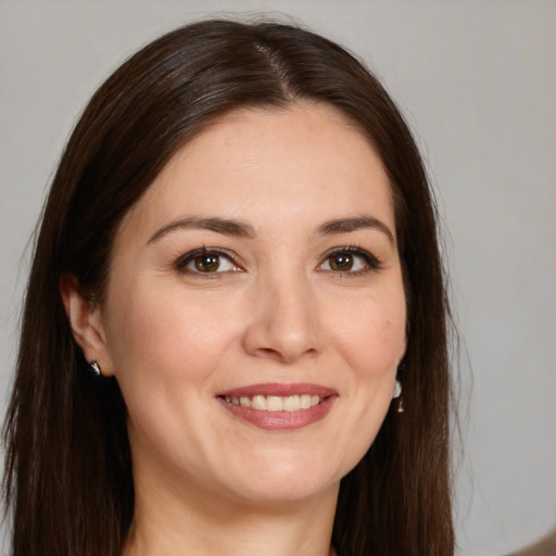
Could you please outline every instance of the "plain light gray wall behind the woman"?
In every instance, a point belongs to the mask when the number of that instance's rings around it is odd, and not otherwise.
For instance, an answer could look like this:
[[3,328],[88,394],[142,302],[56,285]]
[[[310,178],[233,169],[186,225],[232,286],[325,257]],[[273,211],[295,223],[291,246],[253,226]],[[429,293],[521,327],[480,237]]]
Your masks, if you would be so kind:
[[0,0],[2,402],[22,253],[77,114],[146,41],[224,11],[299,17],[364,56],[402,105],[450,230],[468,353],[456,448],[459,555],[500,555],[541,536],[556,523],[553,0]]

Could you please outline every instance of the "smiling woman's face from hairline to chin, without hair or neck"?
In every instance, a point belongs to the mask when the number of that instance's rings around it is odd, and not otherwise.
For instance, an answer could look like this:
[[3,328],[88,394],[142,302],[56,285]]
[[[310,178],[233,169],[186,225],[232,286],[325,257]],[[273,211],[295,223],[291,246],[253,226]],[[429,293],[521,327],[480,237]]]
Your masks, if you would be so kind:
[[257,503],[336,489],[405,349],[380,160],[332,108],[232,112],[126,215],[96,311],[136,480]]

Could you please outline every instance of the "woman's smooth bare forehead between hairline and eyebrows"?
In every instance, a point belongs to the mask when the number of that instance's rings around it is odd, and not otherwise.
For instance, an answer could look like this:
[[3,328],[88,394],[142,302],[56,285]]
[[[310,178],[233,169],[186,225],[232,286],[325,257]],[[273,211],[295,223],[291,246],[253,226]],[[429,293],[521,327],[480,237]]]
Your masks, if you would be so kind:
[[357,207],[393,227],[391,188],[370,141],[332,106],[294,104],[235,110],[211,123],[175,153],[126,220],[146,227],[214,213],[311,225]]

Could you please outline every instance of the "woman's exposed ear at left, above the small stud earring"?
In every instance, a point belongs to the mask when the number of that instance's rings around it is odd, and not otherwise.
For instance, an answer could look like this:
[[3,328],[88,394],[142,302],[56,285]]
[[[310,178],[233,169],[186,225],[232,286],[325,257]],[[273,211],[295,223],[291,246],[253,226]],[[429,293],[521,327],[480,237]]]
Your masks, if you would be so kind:
[[86,361],[97,361],[102,374],[111,375],[99,305],[80,292],[77,278],[70,273],[60,278],[60,294],[73,337]]

